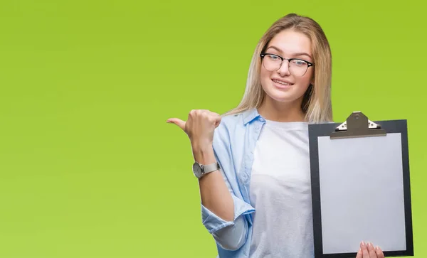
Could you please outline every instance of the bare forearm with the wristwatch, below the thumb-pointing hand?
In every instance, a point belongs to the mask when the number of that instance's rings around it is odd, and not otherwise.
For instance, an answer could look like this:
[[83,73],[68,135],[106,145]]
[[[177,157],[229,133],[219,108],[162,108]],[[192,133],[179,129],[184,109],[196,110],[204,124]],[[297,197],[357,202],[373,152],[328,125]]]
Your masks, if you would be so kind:
[[[193,146],[194,159],[201,164],[216,162],[212,146]],[[199,180],[201,203],[212,213],[226,221],[234,220],[234,204],[231,193],[221,175],[221,171],[206,174]]]

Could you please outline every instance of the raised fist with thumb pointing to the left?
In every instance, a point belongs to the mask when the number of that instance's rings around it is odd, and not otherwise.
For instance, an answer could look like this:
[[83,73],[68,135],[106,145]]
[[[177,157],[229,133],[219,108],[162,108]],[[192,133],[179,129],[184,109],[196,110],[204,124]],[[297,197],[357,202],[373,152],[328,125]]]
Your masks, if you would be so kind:
[[191,146],[203,149],[212,145],[214,131],[221,123],[221,116],[206,109],[193,109],[189,112],[186,122],[178,118],[167,119],[167,122],[184,130],[189,136]]

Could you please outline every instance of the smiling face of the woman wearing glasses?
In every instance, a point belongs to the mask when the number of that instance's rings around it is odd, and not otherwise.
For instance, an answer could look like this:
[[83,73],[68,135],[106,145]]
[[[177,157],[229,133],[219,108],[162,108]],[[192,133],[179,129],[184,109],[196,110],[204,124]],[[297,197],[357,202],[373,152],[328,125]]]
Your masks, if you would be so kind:
[[[278,33],[270,41],[264,52],[275,54],[282,58],[299,58],[314,63],[311,49],[311,42],[307,36],[292,30],[285,30]],[[275,57],[272,56],[272,58]],[[266,58],[263,58],[260,80],[267,97],[276,102],[300,104],[305,91],[312,82],[313,67],[308,67],[305,75],[297,76],[292,74],[294,68],[289,67],[288,60],[283,60],[282,66],[273,71],[265,68],[265,61],[267,61]],[[280,63],[280,60],[275,58],[275,62],[277,61]],[[298,60],[291,62],[294,62],[293,65],[302,64]],[[296,70],[297,68],[295,68]]]

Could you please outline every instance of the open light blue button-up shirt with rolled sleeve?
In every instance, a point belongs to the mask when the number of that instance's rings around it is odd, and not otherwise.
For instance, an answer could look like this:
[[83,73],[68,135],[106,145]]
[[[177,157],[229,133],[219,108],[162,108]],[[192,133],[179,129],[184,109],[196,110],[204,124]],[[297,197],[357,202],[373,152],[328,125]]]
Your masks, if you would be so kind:
[[[214,133],[214,153],[221,166],[221,173],[234,201],[234,220],[242,216],[246,224],[246,240],[237,250],[228,250],[217,243],[221,258],[249,257],[252,238],[252,213],[249,185],[253,164],[253,151],[265,119],[257,109],[241,114],[224,116]],[[223,227],[233,226],[234,221],[226,221],[201,205],[202,222],[211,234]]]

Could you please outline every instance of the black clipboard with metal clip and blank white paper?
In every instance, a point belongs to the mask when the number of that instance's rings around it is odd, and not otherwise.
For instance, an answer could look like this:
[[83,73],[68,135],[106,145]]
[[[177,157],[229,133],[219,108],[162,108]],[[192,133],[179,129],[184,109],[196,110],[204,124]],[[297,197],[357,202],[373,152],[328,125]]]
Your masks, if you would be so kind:
[[354,258],[362,241],[413,256],[406,120],[353,112],[308,129],[315,258]]

